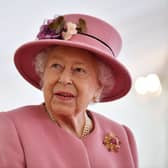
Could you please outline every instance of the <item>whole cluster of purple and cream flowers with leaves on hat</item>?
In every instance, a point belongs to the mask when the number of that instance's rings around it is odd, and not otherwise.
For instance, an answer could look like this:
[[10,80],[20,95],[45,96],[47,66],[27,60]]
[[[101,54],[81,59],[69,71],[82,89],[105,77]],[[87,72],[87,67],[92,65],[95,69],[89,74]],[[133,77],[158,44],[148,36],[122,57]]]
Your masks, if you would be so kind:
[[78,23],[66,22],[63,16],[47,20],[40,27],[38,39],[62,39],[69,40],[74,34],[86,32],[86,22],[79,18]]

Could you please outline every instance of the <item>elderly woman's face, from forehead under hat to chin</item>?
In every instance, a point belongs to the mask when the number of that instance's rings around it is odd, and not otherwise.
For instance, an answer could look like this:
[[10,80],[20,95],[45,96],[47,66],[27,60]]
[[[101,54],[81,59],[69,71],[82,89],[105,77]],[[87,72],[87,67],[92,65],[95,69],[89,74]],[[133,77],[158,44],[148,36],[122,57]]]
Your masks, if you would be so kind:
[[100,93],[98,69],[86,50],[58,46],[48,54],[42,78],[47,110],[54,115],[76,115]]

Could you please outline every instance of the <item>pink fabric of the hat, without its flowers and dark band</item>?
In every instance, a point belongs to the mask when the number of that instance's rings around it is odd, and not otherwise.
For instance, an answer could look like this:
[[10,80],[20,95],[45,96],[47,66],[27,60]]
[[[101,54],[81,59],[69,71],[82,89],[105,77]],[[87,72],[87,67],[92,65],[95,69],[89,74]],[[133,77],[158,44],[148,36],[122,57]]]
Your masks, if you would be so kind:
[[80,18],[84,19],[87,25],[86,34],[94,37],[75,34],[69,40],[40,39],[27,42],[15,52],[14,62],[19,73],[30,84],[41,89],[41,80],[34,66],[37,54],[49,46],[61,45],[82,48],[94,53],[95,58],[99,57],[113,74],[114,78],[108,78],[108,81],[109,84],[114,83],[114,87],[111,85],[111,89],[109,88],[108,91],[107,87],[104,87],[100,101],[108,102],[125,96],[131,88],[131,76],[127,68],[116,59],[122,46],[122,40],[117,30],[107,22],[89,15],[67,14],[64,15],[64,18],[66,22],[73,23],[78,23]]

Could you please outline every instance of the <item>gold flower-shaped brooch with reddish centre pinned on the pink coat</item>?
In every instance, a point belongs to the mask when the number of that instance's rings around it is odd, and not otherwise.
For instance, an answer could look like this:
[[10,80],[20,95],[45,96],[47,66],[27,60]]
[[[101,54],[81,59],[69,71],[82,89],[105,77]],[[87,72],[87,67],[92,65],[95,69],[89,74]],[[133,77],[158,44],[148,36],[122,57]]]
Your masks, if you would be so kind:
[[103,144],[109,152],[118,152],[121,142],[116,135],[114,135],[113,133],[108,133],[104,137]]

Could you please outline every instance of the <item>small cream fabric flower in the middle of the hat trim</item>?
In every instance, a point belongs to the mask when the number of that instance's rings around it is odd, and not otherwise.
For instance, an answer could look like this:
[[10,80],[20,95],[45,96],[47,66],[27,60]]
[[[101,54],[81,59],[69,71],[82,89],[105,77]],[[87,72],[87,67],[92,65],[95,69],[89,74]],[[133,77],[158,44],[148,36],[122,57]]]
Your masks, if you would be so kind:
[[72,22],[67,22],[66,23],[66,29],[67,31],[63,31],[62,32],[62,36],[64,40],[69,40],[72,35],[77,34],[77,25],[75,23]]

